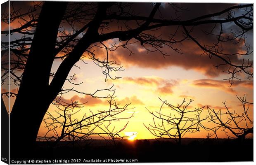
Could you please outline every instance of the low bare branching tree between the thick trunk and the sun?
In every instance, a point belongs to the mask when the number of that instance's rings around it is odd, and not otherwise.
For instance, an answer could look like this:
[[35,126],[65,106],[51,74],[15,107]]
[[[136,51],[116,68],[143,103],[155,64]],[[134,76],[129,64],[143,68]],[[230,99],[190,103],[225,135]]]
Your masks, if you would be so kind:
[[[110,144],[115,145],[116,139],[123,139],[120,132],[126,128],[128,122],[118,130],[116,130],[115,127],[111,128],[111,123],[122,119],[130,119],[133,114],[127,117],[119,117],[119,114],[129,109],[128,106],[131,103],[120,107],[120,104],[113,100],[113,95],[111,95],[110,100],[108,100],[108,110],[98,110],[97,112],[90,110],[89,113],[85,113],[81,119],[77,119],[75,115],[80,115],[78,113],[81,112],[85,103],[80,104],[78,101],[66,103],[62,102],[61,98],[59,98],[54,103],[58,108],[56,111],[57,115],[47,112],[47,116],[43,119],[47,132],[43,137],[38,136],[38,140],[46,140],[50,142],[51,146],[55,146],[60,141],[88,141],[91,139],[92,135],[99,135]],[[99,132],[99,130],[101,132]]]

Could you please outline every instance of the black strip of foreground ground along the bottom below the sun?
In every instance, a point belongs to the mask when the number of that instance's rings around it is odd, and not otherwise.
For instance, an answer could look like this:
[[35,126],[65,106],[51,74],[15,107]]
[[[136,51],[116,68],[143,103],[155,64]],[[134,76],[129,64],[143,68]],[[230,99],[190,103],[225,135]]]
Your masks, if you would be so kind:
[[116,145],[93,140],[90,144],[66,145],[61,142],[54,148],[48,147],[46,142],[38,142],[36,151],[28,157],[34,160],[76,159],[72,163],[88,163],[85,161],[92,159],[107,159],[104,163],[121,163],[120,159],[128,162],[137,159],[138,163],[253,161],[253,139],[245,139],[244,142],[235,139],[183,139],[181,146],[160,139],[116,140]]

